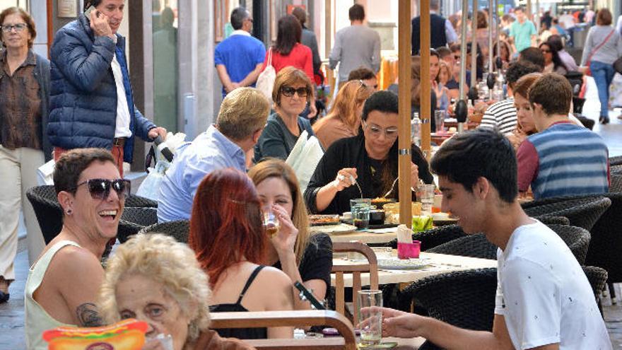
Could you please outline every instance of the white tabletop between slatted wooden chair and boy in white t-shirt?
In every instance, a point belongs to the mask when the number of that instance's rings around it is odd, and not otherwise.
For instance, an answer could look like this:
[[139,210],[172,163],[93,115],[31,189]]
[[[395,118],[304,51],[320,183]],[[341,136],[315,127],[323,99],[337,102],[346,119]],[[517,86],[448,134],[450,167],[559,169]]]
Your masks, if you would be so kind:
[[[395,253],[395,251],[394,251]],[[442,274],[445,272],[462,271],[467,269],[483,269],[486,267],[497,267],[497,261],[491,259],[480,259],[477,257],[461,257],[459,255],[436,254],[431,252],[421,252],[423,259],[429,259],[430,264],[421,269],[379,269],[379,284],[399,284],[410,283],[423,279],[427,276]],[[379,257],[378,259],[382,259]],[[333,264],[360,264],[348,259],[334,258]],[[369,286],[369,274],[360,274],[361,284]],[[352,286],[352,274],[344,274],[344,284],[346,287]],[[335,285],[335,274],[331,274],[331,286]]]

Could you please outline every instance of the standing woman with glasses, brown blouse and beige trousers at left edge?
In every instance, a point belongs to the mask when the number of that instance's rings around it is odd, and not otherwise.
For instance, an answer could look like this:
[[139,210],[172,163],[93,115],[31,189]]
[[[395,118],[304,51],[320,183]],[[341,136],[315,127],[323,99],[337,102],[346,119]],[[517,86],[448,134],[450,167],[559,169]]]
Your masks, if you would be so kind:
[[0,13],[0,28],[0,303],[5,303],[15,279],[20,209],[30,263],[45,247],[25,192],[37,185],[37,168],[52,158],[52,147],[45,136],[49,61],[33,52],[35,22],[28,12],[10,7]]

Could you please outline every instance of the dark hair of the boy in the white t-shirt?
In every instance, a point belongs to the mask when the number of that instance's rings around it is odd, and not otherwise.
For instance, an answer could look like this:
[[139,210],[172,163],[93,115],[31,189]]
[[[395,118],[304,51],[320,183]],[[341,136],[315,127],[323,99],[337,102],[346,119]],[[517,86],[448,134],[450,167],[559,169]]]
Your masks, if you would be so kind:
[[514,148],[503,134],[491,129],[462,132],[448,139],[430,161],[430,168],[469,192],[479,177],[485,177],[503,202],[512,203],[518,195]]

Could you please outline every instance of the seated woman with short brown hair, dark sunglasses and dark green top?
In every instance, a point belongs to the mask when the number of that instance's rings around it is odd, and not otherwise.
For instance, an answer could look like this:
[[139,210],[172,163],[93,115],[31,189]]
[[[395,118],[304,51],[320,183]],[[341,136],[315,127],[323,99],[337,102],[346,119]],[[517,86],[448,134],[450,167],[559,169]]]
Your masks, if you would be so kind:
[[311,100],[312,84],[305,72],[292,66],[285,67],[276,74],[272,100],[274,114],[254,148],[254,163],[271,157],[286,160],[303,131],[307,137],[314,135],[308,119],[300,117]]

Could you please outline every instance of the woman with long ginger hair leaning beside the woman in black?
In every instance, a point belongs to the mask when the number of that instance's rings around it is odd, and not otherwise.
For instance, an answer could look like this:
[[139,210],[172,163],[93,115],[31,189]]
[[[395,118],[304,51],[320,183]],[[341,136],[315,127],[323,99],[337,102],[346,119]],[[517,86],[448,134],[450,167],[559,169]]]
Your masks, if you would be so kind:
[[348,81],[339,89],[329,114],[313,124],[315,136],[324,149],[334,141],[358,135],[363,103],[373,92],[362,80]]

